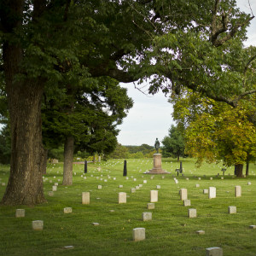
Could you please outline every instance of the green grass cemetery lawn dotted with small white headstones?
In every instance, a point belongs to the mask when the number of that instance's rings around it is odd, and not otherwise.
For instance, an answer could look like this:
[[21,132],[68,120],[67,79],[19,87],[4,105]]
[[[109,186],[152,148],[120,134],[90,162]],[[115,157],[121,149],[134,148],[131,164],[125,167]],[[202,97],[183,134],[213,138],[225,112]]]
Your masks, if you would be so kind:
[[[129,179],[123,177],[123,166],[123,160],[90,163],[84,174],[84,165],[74,164],[73,185],[65,187],[61,185],[63,165],[49,165],[44,176],[47,203],[35,207],[0,206],[0,255],[204,256],[207,247],[222,247],[224,256],[255,256],[256,229],[249,228],[256,225],[253,163],[249,177],[236,178],[233,168],[228,168],[224,179],[221,165],[206,164],[196,169],[191,159],[183,159],[183,176],[178,177],[174,172],[179,168],[177,160],[162,160],[162,168],[171,174],[154,175],[153,179],[143,174],[153,167],[152,160],[127,160]],[[9,167],[0,166],[1,198],[8,177]],[[59,183],[57,191],[49,196],[55,183]],[[143,187],[131,193],[131,188],[139,184]],[[102,189],[97,189],[98,185]],[[159,201],[153,210],[148,210],[149,191],[156,190],[156,185],[160,185]],[[241,197],[235,197],[237,185],[241,186]],[[208,199],[203,194],[203,189],[209,187],[216,187],[216,198]],[[191,207],[183,206],[179,189],[188,189]],[[90,204],[82,205],[82,192],[87,191]],[[126,204],[118,204],[119,192],[126,192]],[[228,213],[230,206],[236,206],[236,214]],[[72,207],[73,212],[65,214],[65,207]],[[197,218],[188,217],[189,208],[196,209]],[[15,218],[16,209],[25,209],[25,218]],[[143,222],[143,212],[152,212],[152,220]],[[33,220],[44,220],[44,230],[32,230]],[[146,229],[146,240],[132,241],[135,228]],[[204,230],[205,234],[198,235],[197,230]]]

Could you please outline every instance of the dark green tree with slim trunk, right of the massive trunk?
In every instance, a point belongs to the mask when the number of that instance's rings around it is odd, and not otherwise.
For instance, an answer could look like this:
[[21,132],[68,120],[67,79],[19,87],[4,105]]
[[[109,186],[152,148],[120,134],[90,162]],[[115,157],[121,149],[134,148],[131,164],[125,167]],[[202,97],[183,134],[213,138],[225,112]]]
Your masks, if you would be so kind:
[[110,154],[116,146],[119,131],[132,100],[126,89],[110,78],[88,79],[84,86],[64,88],[46,100],[43,109],[43,135],[52,147],[64,143],[63,184],[73,183],[74,150],[90,154]]

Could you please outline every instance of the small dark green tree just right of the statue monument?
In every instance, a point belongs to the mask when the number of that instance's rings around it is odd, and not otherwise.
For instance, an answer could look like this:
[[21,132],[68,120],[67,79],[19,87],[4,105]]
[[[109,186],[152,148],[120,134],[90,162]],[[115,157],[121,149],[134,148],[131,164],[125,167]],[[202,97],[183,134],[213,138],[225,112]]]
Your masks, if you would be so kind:
[[177,157],[179,160],[180,156],[184,156],[185,143],[183,134],[178,131],[177,126],[171,125],[169,129],[169,136],[164,137],[162,140],[163,147],[162,153],[164,157]]

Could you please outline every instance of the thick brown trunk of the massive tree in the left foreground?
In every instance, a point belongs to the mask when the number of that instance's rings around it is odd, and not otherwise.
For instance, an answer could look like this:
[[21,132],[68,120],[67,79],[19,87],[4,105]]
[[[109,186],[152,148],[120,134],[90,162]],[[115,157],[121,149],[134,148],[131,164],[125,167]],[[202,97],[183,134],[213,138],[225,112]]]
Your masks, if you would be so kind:
[[40,79],[15,80],[20,73],[22,51],[19,46],[3,44],[3,63],[9,105],[11,132],[10,176],[2,203],[34,205],[42,203],[43,157]]

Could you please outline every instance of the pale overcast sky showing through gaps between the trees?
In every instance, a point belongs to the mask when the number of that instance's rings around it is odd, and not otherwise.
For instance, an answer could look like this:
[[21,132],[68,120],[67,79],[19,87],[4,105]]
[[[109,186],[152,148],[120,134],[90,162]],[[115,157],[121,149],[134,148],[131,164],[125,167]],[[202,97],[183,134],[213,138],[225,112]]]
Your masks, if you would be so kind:
[[[247,14],[251,14],[247,0],[238,0],[238,6]],[[250,0],[253,15],[256,15],[256,0]],[[246,45],[256,46],[256,18],[251,21],[247,33]],[[160,142],[168,135],[172,124],[172,105],[168,97],[159,92],[154,96],[143,95],[135,89],[134,84],[121,84],[128,88],[128,95],[133,99],[134,106],[122,125],[119,125],[118,141],[122,145],[141,145],[143,143],[154,146],[155,138]]]

